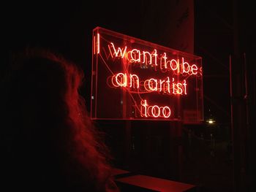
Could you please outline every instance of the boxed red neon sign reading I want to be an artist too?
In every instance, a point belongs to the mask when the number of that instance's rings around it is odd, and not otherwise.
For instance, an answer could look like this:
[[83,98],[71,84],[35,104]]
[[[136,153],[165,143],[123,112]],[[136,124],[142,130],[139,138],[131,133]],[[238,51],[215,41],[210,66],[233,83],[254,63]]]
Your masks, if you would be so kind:
[[94,28],[91,118],[203,120],[202,58]]

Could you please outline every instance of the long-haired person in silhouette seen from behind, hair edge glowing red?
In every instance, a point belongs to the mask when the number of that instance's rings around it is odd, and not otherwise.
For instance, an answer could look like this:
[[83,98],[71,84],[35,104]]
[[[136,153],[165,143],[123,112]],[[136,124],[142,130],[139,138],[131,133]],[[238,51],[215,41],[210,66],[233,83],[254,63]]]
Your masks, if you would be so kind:
[[110,166],[78,93],[83,72],[42,50],[13,63],[1,99],[9,181],[32,191],[105,191]]

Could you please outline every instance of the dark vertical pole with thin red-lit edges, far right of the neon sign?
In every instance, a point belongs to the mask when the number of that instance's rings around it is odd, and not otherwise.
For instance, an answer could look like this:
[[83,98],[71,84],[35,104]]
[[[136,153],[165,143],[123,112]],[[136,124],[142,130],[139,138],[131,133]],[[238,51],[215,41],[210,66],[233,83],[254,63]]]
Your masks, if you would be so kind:
[[233,190],[244,191],[244,104],[243,102],[243,66],[239,44],[241,28],[238,15],[241,13],[238,0],[233,0],[233,60],[231,71],[232,139],[233,139]]

